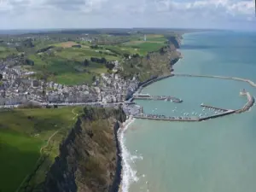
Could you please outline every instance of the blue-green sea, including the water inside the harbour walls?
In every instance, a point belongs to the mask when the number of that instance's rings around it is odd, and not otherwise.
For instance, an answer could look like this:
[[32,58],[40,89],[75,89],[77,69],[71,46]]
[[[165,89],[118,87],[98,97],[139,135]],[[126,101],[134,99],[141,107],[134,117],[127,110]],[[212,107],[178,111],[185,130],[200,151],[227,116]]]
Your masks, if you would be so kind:
[[[174,73],[219,75],[256,82],[256,33],[197,32],[183,35],[183,59]],[[214,113],[201,103],[238,109],[247,102],[242,89],[256,87],[228,79],[172,77],[143,89],[176,96],[182,103],[136,101],[144,113],[169,116]],[[121,144],[122,192],[255,192],[256,108],[202,122],[134,119]]]

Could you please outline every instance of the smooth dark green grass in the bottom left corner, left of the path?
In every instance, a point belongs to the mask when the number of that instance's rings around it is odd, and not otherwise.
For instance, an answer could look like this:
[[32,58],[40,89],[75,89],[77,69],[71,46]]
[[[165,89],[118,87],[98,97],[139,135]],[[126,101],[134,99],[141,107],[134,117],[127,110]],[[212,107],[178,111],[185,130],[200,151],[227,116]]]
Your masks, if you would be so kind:
[[11,131],[0,131],[0,142],[0,191],[13,192],[26,174],[33,171],[43,143]]

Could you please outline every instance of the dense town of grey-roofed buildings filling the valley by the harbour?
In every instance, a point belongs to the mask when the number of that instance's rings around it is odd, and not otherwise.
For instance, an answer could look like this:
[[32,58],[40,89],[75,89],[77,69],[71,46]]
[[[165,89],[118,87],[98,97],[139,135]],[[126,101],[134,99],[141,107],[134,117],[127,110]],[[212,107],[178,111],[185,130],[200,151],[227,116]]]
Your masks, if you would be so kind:
[[137,90],[138,80],[124,80],[119,74],[102,73],[96,79],[94,86],[90,85],[64,85],[52,81],[44,82],[27,77],[28,74],[21,67],[10,68],[1,63],[3,84],[0,86],[1,106],[17,106],[26,102],[49,103],[79,103],[79,102],[124,102],[125,98]]

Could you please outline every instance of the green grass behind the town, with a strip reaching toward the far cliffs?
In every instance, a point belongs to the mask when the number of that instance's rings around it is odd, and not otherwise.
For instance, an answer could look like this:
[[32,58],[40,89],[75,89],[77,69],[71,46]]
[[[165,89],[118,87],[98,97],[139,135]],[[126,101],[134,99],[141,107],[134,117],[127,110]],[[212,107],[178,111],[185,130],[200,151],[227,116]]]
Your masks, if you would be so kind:
[[41,77],[47,74],[49,80],[59,84],[91,84],[93,76],[107,73],[108,69],[93,62],[84,67],[85,59],[90,61],[90,57],[104,57],[107,61],[122,61],[124,55],[147,55],[148,52],[159,50],[166,42],[164,36],[156,34],[147,35],[147,39],[145,42],[143,37],[134,37],[124,44],[101,45],[103,49],[91,49],[88,42],[84,43],[82,48],[73,48],[72,45],[77,43],[69,41],[52,44],[63,49],[53,49],[50,55],[30,55],[29,58],[35,63],[32,70],[41,73]]

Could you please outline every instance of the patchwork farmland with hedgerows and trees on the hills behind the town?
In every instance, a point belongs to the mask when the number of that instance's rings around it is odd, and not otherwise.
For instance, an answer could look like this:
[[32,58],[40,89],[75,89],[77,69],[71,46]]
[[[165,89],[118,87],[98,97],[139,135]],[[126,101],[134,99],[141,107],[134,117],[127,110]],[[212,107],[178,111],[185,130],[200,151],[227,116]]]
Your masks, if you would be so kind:
[[[58,84],[92,84],[95,77],[108,73],[109,67],[106,63],[122,63],[132,55],[145,56],[148,52],[164,47],[167,41],[159,34],[148,34],[146,41],[143,34],[101,34],[93,37],[97,38],[94,42],[81,39],[26,41],[25,48],[19,49],[26,52],[26,58],[32,61],[32,65],[26,64],[23,67],[37,72],[38,79],[47,79]],[[0,47],[0,57],[5,57],[12,51],[15,52],[15,49]],[[104,58],[105,61],[92,61],[91,58]]]

